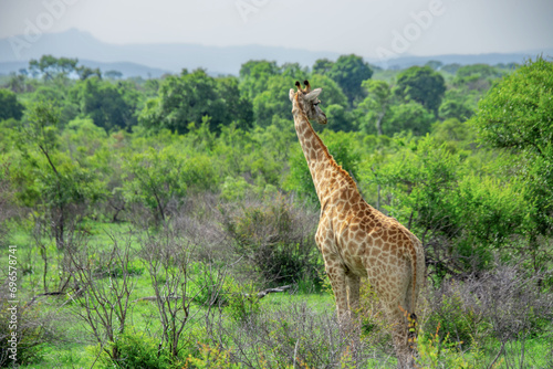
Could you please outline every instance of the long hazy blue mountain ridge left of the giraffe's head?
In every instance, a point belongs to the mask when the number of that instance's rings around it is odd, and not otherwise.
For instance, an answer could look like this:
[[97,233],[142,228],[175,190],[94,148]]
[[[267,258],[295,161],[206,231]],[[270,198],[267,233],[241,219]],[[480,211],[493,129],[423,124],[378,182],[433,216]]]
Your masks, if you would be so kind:
[[[12,46],[14,42],[17,48]],[[340,56],[332,52],[260,45],[226,48],[185,43],[116,45],[104,43],[90,33],[74,29],[62,33],[45,33],[34,43],[25,42],[24,36],[11,41],[0,39],[0,63],[40,59],[44,54],[102,63],[133,62],[171,73],[179,73],[182,68],[202,67],[210,74],[238,74],[240,65],[249,60],[267,59],[279,64],[298,62],[311,66],[317,59]]]

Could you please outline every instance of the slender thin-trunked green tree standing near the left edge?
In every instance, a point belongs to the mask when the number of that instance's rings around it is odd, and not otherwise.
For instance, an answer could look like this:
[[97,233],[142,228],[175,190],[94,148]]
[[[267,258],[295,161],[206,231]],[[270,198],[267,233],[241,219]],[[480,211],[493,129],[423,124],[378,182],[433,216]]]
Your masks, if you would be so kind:
[[94,171],[59,148],[59,109],[49,103],[38,103],[28,112],[22,146],[24,165],[15,175],[20,182],[19,198],[36,207],[48,218],[58,249],[65,246],[67,223],[79,215],[79,208],[97,201],[102,183]]

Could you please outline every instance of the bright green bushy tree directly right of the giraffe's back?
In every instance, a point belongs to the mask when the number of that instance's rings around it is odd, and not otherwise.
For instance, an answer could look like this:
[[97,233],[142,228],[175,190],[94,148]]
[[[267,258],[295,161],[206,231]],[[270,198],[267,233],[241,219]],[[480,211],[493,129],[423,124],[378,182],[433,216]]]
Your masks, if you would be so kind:
[[493,251],[529,226],[519,182],[474,175],[465,152],[434,137],[404,143],[369,168],[363,177],[383,186],[384,209],[422,241],[439,277],[490,267]]

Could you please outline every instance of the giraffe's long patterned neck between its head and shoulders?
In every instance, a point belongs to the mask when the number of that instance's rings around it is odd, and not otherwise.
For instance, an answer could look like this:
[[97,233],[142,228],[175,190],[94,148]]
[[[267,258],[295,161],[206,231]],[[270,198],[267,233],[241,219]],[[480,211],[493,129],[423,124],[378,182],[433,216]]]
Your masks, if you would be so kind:
[[[319,201],[323,205],[332,193],[334,187],[334,183],[331,183],[332,180],[343,179],[349,182],[352,179],[336,164],[303,113],[295,112],[294,126],[303,155],[310,168],[311,177],[313,178],[313,183],[315,184]],[[338,186],[338,183],[335,184]]]

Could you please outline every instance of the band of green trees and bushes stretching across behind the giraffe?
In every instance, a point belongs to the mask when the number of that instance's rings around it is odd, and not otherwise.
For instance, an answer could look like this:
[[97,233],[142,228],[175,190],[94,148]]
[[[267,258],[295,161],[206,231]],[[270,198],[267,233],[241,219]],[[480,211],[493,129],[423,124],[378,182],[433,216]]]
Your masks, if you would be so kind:
[[[10,202],[52,224],[125,219],[138,204],[163,222],[190,193],[227,201],[296,193],[316,203],[288,89],[322,87],[323,140],[369,203],[415,230],[439,276],[484,270],[494,255],[550,267],[552,73],[523,65],[385,71],[356,55],[310,67],[244,63],[158,80],[84,73],[50,55],[3,80],[2,181]],[[79,77],[72,77],[77,75]]]

